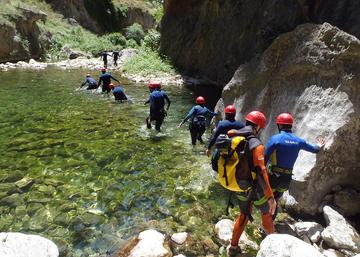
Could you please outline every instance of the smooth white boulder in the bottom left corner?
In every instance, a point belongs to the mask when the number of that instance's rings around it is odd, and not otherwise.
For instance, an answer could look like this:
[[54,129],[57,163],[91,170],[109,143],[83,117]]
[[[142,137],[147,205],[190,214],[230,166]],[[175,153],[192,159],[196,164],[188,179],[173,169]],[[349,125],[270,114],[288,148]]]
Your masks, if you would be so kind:
[[0,233],[1,257],[58,257],[57,246],[49,239],[22,233]]

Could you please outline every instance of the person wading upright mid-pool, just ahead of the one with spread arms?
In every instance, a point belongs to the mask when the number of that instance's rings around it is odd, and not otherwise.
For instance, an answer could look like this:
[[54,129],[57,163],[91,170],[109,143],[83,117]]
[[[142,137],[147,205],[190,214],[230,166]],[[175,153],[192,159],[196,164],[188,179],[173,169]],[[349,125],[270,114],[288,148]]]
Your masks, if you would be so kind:
[[[150,103],[150,114],[146,118],[146,126],[148,129],[151,129],[151,122],[155,121],[155,129],[160,132],[160,127],[167,115],[171,101],[167,94],[164,91],[161,91],[160,83],[150,82],[148,88],[150,90],[150,97],[145,104]],[[165,101],[167,102],[166,110]]]

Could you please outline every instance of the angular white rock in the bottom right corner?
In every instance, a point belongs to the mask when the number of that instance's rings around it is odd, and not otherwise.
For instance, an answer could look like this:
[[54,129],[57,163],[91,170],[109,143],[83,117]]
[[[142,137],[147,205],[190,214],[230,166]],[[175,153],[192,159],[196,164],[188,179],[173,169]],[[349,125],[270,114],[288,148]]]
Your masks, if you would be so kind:
[[328,227],[321,233],[324,241],[335,249],[360,252],[360,236],[356,230],[337,211],[329,206],[323,208]]

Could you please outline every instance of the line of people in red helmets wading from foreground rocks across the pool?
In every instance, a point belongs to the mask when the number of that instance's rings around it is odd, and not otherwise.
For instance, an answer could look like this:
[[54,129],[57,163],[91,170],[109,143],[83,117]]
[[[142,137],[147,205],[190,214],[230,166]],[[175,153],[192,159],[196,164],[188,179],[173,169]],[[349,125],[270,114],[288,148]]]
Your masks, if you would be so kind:
[[[111,83],[111,79],[118,83],[119,80],[106,73],[106,68],[102,68],[101,72],[98,82],[88,74],[82,86],[87,84],[87,89],[97,89],[102,85],[102,92],[109,93],[112,90],[116,100],[127,99],[121,86],[115,86]],[[162,91],[160,83],[149,83],[148,88],[150,96],[145,104],[150,104],[150,113],[146,118],[146,126],[151,129],[151,123],[155,122],[155,129],[160,131],[171,101],[168,95]],[[204,143],[202,136],[206,130],[206,119],[217,115],[205,106],[204,97],[198,96],[195,103],[177,126],[180,128],[185,122],[190,121],[189,131],[192,145],[196,145],[197,141]],[[277,201],[289,189],[293,167],[300,150],[318,153],[324,148],[325,141],[320,139],[316,145],[313,145],[297,137],[292,132],[294,118],[290,113],[281,113],[276,119],[279,133],[272,136],[265,147],[259,139],[261,131],[266,126],[266,117],[262,112],[252,111],[248,113],[245,116],[245,124],[235,119],[236,108],[234,105],[226,106],[224,112],[225,119],[220,121],[214,130],[207,145],[206,153],[209,157],[214,158],[218,153],[215,150],[212,154],[212,148],[218,138],[224,135],[228,138],[243,137],[247,141],[245,151],[248,154],[246,162],[249,167],[248,174],[239,170],[241,174],[236,175],[237,184],[240,188],[236,192],[240,214],[235,221],[228,252],[228,256],[234,257],[241,253],[238,246],[239,239],[247,222],[252,219],[253,206],[261,212],[265,233],[275,232],[274,220],[278,210]]]

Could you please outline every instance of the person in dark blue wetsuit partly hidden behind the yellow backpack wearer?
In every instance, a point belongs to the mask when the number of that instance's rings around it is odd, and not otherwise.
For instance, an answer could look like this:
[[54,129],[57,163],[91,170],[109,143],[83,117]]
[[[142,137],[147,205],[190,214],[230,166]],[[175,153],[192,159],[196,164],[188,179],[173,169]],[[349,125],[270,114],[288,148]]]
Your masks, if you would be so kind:
[[227,134],[231,129],[241,129],[244,124],[240,121],[235,120],[236,108],[234,105],[228,105],[225,107],[225,120],[219,122],[213,136],[210,139],[206,154],[208,157],[211,156],[211,147],[215,144],[217,137],[220,134]]

